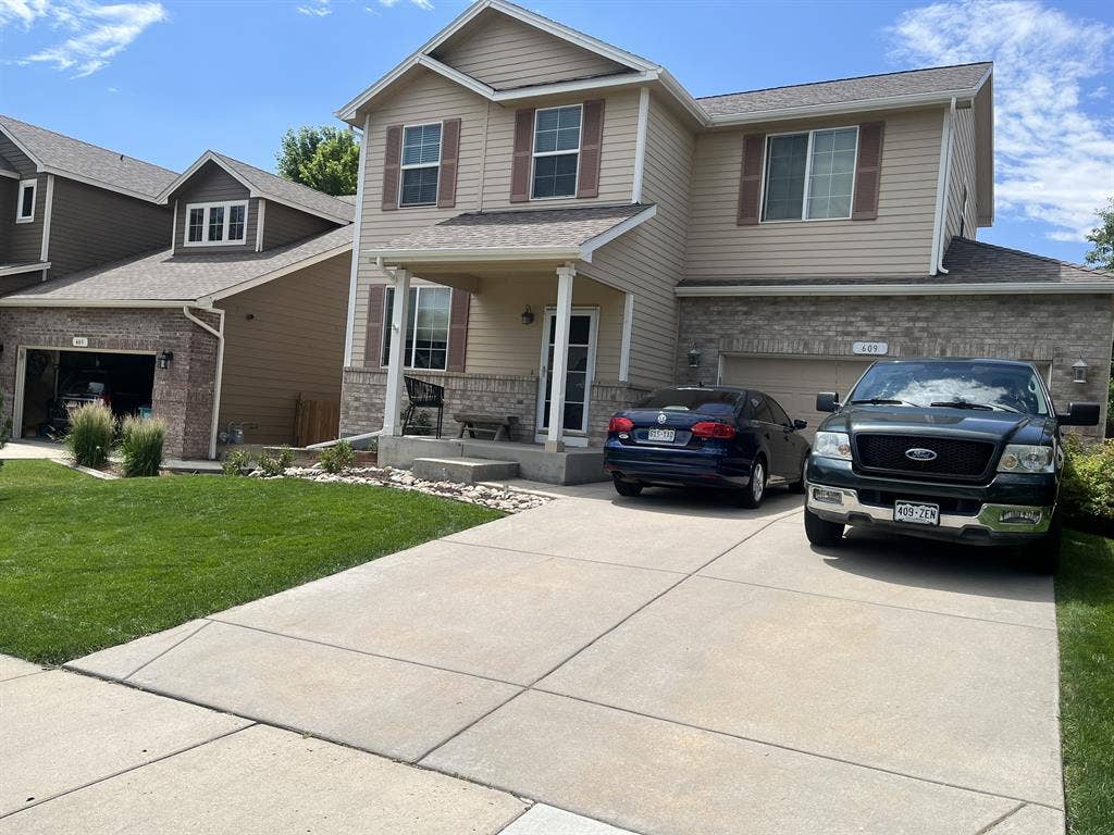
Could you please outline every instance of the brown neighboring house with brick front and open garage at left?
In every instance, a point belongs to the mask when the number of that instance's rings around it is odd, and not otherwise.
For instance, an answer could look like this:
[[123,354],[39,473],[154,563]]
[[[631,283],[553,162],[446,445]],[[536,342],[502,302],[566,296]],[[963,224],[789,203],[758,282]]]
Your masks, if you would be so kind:
[[0,154],[19,180],[0,223],[18,434],[92,372],[167,421],[174,458],[215,456],[232,423],[290,443],[300,397],[339,404],[351,203],[214,151],[176,175],[7,117]]

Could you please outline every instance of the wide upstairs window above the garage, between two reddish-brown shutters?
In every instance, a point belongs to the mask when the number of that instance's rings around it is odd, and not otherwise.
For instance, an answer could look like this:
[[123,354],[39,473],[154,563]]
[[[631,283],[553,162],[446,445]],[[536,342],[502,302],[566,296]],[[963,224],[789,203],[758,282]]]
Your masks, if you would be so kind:
[[851,217],[858,147],[857,127],[769,137],[762,219]]

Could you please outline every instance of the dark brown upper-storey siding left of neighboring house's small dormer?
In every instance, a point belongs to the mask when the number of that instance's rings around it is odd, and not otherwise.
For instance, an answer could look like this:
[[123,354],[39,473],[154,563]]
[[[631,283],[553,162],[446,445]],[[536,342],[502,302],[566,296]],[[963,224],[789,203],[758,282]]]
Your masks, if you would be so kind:
[[56,176],[48,277],[165,249],[172,213],[167,206]]

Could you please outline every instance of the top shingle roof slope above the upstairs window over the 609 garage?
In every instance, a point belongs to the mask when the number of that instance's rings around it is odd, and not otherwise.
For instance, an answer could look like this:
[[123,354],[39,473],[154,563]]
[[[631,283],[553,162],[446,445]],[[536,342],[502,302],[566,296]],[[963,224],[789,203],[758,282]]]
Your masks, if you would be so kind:
[[973,89],[993,63],[962,63],[954,67],[887,72],[843,78],[836,81],[771,87],[764,90],[729,92],[696,99],[710,116],[743,116],[794,107],[838,105],[916,94]]

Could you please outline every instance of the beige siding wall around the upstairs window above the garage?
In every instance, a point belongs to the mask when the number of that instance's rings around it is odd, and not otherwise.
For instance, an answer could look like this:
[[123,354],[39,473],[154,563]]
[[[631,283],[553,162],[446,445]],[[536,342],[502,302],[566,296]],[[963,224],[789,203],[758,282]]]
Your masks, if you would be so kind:
[[878,114],[868,114],[700,135],[687,277],[927,275],[942,108],[885,115],[878,219],[735,225],[745,134],[838,127],[877,119]]

